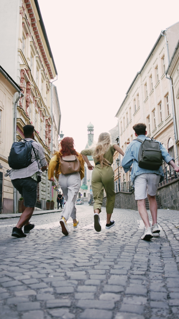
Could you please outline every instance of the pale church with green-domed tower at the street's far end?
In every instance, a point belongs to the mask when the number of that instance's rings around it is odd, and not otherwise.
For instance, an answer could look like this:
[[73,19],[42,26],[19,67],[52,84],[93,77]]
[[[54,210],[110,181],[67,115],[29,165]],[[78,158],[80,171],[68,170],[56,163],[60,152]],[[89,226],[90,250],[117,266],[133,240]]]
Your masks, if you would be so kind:
[[[94,139],[94,125],[91,124],[91,122],[87,125],[88,129],[88,142],[86,144],[86,148],[89,148],[93,144]],[[88,156],[89,162],[91,165],[94,166],[94,161],[92,156]],[[82,198],[84,202],[89,201],[89,199],[92,197],[92,194],[90,194],[91,189],[91,174],[92,171],[88,169],[88,166],[85,162],[84,164],[84,178],[82,179],[82,185],[80,187],[78,198]]]

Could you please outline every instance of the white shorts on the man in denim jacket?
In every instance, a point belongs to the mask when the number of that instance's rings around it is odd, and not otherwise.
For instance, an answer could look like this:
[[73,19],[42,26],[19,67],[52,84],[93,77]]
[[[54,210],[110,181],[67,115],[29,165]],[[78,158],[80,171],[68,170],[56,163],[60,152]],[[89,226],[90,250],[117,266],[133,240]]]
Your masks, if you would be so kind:
[[156,195],[156,191],[160,182],[160,175],[154,173],[144,173],[136,176],[134,179],[135,200],[147,198]]

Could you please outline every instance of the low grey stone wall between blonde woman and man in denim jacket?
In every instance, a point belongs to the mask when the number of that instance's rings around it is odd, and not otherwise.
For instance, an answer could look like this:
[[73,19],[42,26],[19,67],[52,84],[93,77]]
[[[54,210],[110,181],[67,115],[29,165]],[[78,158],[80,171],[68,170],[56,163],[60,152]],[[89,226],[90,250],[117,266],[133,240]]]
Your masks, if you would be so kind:
[[[106,205],[106,197],[103,198],[103,207]],[[123,209],[134,209],[135,211],[138,210],[137,208],[137,201],[134,197],[134,191],[132,193],[125,193],[125,192],[118,192],[116,193],[115,198],[115,208],[123,208]]]

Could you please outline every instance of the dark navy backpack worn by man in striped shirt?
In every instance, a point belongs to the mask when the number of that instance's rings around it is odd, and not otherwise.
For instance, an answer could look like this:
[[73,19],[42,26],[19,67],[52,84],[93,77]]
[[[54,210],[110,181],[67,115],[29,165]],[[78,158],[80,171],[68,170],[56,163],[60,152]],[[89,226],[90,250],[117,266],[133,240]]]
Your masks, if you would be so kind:
[[25,168],[31,164],[33,141],[21,140],[12,144],[8,157],[8,164],[13,169]]

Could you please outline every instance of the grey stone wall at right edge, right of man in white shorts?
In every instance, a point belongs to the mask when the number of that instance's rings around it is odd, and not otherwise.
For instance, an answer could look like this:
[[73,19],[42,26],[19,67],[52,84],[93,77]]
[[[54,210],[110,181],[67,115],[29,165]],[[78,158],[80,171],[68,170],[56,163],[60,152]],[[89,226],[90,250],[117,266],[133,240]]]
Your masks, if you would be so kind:
[[157,189],[162,208],[179,210],[179,178]]

